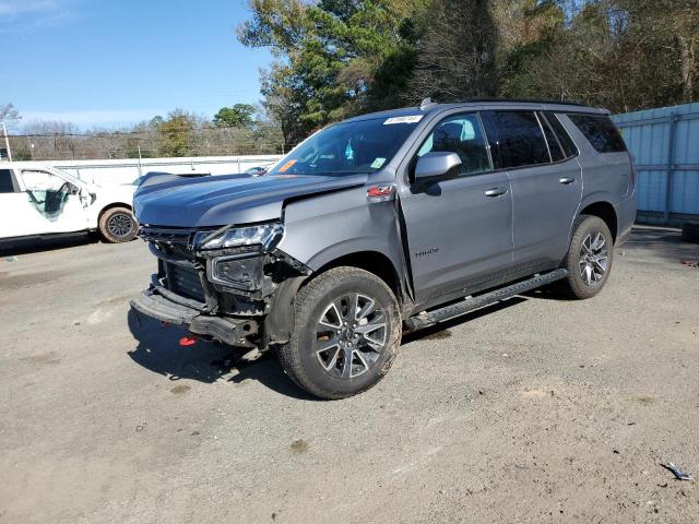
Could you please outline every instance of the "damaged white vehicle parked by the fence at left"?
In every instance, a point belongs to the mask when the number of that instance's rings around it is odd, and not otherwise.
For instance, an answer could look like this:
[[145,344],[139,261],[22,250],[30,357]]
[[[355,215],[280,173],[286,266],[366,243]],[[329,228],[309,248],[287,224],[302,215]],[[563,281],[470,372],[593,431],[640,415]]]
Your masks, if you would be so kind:
[[98,230],[108,242],[138,234],[135,186],[97,186],[43,164],[0,163],[0,242]]

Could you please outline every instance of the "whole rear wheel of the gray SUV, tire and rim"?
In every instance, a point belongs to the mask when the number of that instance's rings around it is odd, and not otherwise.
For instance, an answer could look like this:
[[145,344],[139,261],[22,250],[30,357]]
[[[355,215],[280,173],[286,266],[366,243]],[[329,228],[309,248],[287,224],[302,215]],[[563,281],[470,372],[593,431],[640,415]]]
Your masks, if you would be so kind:
[[556,287],[569,298],[594,297],[609,277],[613,258],[614,240],[605,222],[597,216],[579,216],[561,264],[568,276]]

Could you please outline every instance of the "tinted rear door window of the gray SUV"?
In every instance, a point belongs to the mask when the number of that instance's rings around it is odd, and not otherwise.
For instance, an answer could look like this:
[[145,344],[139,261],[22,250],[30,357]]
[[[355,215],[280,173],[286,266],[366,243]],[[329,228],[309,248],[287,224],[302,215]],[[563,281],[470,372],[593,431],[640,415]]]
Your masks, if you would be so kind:
[[496,167],[507,169],[550,162],[536,115],[485,111],[482,116]]

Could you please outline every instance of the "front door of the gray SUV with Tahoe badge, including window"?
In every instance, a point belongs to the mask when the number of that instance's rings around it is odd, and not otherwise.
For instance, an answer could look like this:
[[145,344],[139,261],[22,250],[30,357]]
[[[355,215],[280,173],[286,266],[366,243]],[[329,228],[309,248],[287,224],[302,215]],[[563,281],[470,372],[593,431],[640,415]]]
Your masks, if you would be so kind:
[[413,181],[402,192],[408,255],[417,301],[497,285],[512,265],[512,191],[494,171],[475,112],[446,117],[417,156],[459,154],[458,172]]

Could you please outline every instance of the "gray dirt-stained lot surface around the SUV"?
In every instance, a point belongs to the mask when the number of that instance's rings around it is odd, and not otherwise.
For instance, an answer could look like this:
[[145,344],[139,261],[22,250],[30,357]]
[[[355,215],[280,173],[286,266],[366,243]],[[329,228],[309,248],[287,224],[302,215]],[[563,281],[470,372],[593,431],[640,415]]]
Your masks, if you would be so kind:
[[590,301],[404,341],[340,402],[128,300],[145,246],[0,259],[0,522],[696,522],[699,246],[639,228]]

